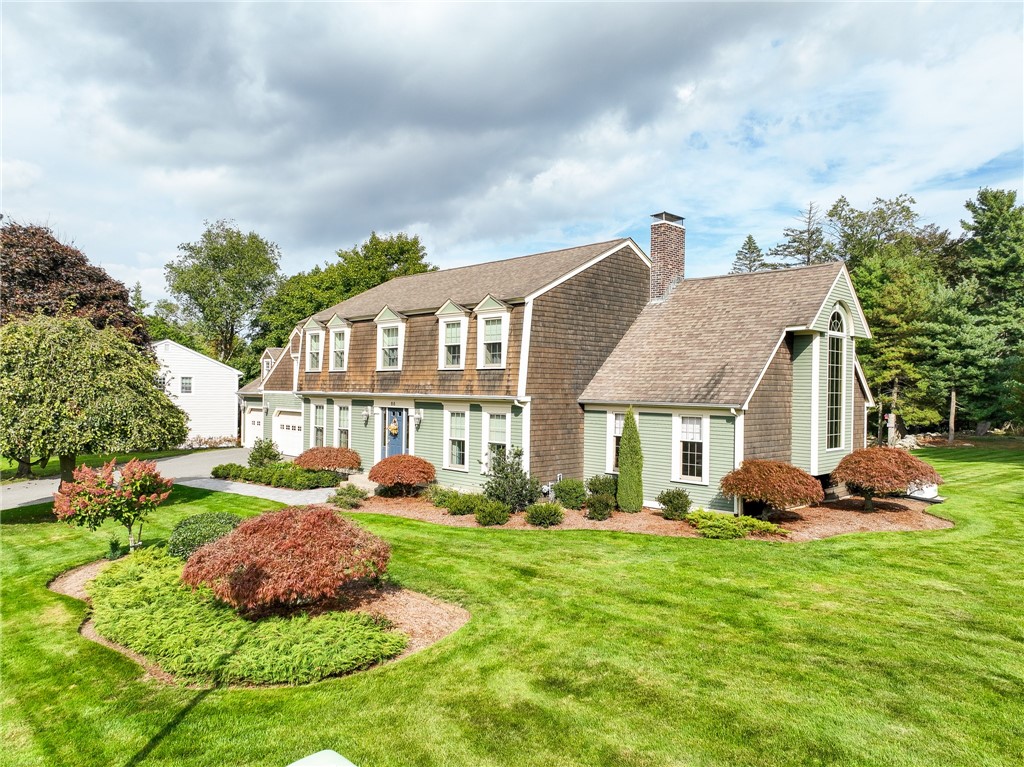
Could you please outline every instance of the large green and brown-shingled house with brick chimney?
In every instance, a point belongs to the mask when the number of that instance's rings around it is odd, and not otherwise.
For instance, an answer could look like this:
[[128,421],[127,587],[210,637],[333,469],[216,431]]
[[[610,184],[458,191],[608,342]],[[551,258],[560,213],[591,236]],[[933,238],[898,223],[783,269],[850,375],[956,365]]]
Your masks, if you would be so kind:
[[721,511],[744,458],[823,476],[865,443],[869,332],[844,264],[687,280],[669,213],[650,251],[621,239],[392,280],[301,323],[240,395],[286,454],[409,453],[466,488],[511,448],[545,482],[613,473],[632,406],[646,503],[682,487]]

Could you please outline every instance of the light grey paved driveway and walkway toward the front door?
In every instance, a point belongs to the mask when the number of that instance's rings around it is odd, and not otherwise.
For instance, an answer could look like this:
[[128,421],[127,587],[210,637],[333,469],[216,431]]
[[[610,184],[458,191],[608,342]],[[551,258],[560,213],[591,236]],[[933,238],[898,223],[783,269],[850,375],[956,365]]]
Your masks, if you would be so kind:
[[[249,451],[245,448],[227,448],[221,450],[196,451],[184,456],[157,459],[157,467],[165,477],[173,477],[175,484],[189,487],[203,487],[218,493],[234,493],[240,496],[265,498],[268,501],[280,501],[289,505],[324,503],[334,493],[333,487],[322,487],[313,491],[292,491],[286,487],[266,487],[262,484],[247,482],[230,482],[226,479],[213,479],[210,469],[220,464],[249,463]],[[366,474],[352,474],[352,484],[373,493],[374,485]],[[15,506],[31,506],[47,503],[53,500],[53,494],[60,484],[58,477],[45,479],[30,479],[26,482],[11,482],[0,485],[0,509],[12,509]]]

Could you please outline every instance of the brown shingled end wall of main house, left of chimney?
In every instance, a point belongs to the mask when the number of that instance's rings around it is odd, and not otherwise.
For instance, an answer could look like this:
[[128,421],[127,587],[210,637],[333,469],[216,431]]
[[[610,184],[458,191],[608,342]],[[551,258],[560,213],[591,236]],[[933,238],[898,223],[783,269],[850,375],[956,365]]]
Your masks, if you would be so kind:
[[[530,472],[583,476],[583,409],[577,398],[646,305],[650,270],[629,248],[534,303],[526,393]],[[515,327],[515,326],[513,326]]]

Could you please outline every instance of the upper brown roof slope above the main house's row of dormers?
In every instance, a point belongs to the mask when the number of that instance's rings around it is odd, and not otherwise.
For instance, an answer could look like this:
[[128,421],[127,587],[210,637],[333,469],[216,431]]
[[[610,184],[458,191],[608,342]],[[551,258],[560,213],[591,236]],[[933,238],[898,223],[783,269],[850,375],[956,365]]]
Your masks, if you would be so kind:
[[352,296],[313,317],[326,323],[334,314],[347,319],[376,316],[390,306],[399,312],[440,308],[449,299],[472,308],[488,294],[504,301],[524,298],[587,261],[629,242],[609,240],[579,248],[537,253],[504,261],[459,266],[395,278],[365,293]]

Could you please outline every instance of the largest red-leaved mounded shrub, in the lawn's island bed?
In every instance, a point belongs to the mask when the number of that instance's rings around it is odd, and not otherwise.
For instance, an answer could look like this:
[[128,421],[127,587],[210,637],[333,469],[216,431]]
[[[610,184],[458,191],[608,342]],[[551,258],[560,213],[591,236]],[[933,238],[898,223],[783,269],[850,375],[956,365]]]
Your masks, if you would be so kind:
[[345,585],[379,578],[391,547],[316,505],[270,511],[189,557],[181,580],[209,586],[244,612],[329,600]]

